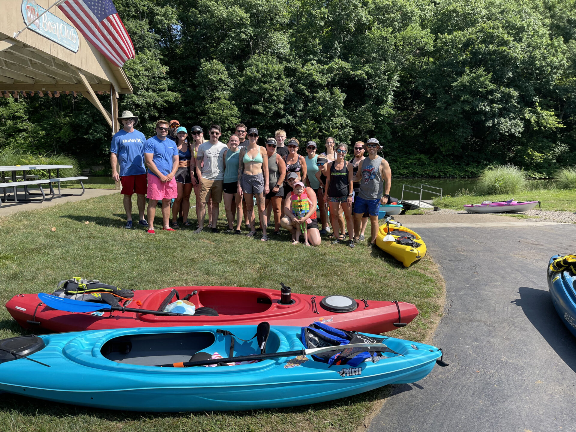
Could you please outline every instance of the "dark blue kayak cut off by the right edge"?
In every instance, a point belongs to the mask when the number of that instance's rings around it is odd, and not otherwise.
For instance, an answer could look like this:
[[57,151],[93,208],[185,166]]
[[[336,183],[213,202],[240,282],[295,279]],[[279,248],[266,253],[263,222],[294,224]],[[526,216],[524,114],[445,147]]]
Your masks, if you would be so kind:
[[548,290],[560,319],[576,336],[576,276],[569,270],[552,271],[550,267],[561,257],[562,255],[554,255],[548,263]]

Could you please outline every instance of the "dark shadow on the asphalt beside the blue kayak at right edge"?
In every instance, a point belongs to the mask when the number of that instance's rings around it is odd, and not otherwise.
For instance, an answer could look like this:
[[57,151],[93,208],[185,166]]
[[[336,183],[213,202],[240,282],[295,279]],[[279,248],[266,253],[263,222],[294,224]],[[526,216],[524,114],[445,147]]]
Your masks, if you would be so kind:
[[576,345],[574,336],[562,322],[546,290],[521,286],[520,298],[511,301],[520,306],[526,318],[532,323],[556,354],[576,372]]

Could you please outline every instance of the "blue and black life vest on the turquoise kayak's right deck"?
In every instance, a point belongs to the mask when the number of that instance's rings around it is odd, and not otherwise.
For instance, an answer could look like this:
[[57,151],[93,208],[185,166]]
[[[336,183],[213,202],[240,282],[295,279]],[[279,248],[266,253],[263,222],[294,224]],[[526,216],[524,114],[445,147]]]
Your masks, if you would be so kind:
[[[306,348],[323,348],[328,346],[347,345],[349,343],[382,343],[386,338],[373,338],[361,333],[355,333],[339,328],[330,327],[320,321],[302,327],[302,342]],[[314,354],[312,358],[329,365],[358,366],[366,359],[382,357],[380,351],[366,351],[365,348],[351,348],[339,353]]]

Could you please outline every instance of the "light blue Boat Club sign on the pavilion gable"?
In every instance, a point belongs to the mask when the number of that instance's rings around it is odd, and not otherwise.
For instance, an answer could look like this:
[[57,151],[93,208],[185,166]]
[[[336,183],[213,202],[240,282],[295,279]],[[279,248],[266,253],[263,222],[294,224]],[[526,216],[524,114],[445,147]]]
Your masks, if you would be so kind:
[[[76,29],[54,14],[46,12],[35,0],[22,0],[22,17],[28,28],[48,39],[78,52],[79,37]],[[44,13],[44,14],[43,14]]]

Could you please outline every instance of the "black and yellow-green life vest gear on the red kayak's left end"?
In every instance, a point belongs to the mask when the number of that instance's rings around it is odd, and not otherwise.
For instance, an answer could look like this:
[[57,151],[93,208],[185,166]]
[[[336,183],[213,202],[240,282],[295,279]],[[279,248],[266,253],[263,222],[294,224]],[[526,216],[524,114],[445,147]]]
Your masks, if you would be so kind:
[[107,303],[118,306],[119,298],[132,298],[134,291],[121,290],[116,286],[108,285],[91,279],[73,278],[60,281],[56,285],[54,295],[57,297],[72,298],[73,300]]

